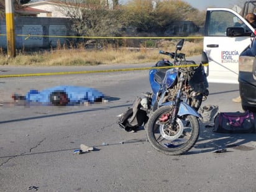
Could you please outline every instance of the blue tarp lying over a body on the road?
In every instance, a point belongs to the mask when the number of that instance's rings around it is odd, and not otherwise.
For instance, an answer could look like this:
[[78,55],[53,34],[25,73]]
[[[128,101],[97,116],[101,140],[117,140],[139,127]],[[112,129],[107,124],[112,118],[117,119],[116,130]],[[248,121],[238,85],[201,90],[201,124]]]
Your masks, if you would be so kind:
[[104,94],[93,88],[82,86],[55,86],[42,91],[30,90],[25,99],[30,102],[50,103],[50,94],[54,91],[63,91],[68,95],[70,103],[94,103],[96,99],[104,98]]

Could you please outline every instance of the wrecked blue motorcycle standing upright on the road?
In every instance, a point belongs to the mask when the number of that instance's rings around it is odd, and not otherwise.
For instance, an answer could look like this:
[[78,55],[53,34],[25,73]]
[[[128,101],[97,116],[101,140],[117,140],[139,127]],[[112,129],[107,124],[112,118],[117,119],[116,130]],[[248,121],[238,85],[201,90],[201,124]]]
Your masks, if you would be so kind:
[[187,61],[184,53],[177,53],[183,43],[184,39],[180,40],[174,53],[160,51],[173,58],[173,63],[164,60],[163,67],[173,68],[150,70],[152,93],[142,99],[150,111],[145,124],[147,138],[153,148],[167,155],[181,155],[196,143],[201,118],[198,109],[209,94],[203,66],[208,63],[206,53],[202,53],[201,63],[196,65]]

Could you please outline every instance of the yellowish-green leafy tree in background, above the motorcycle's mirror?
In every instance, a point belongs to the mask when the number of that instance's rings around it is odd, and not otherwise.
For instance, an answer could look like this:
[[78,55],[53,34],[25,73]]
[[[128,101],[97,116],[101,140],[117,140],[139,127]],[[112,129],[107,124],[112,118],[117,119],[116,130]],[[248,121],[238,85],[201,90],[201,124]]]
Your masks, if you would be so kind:
[[188,20],[190,14],[197,10],[180,0],[133,0],[124,9],[129,25],[144,32],[165,30],[173,21]]

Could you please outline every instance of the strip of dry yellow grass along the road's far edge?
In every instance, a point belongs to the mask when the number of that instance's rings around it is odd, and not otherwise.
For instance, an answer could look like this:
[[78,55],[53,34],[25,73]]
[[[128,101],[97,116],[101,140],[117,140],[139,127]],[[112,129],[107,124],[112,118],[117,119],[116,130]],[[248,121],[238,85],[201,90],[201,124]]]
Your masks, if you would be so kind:
[[[159,50],[174,52],[178,40],[162,40],[158,42],[158,48],[111,48],[101,50],[87,50],[84,48],[58,47],[56,50],[45,50],[34,53],[17,53],[15,58],[7,58],[0,51],[0,65],[32,65],[32,66],[78,66],[78,65],[100,65],[114,63],[149,63],[157,62],[166,55],[159,54]],[[199,55],[203,50],[203,40],[185,41],[182,53],[186,57]]]

